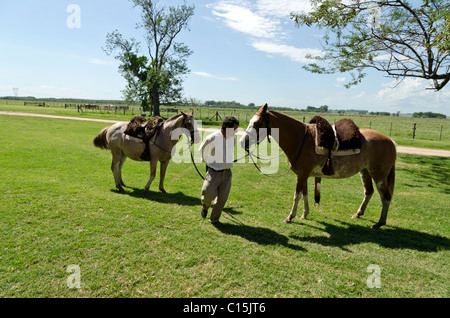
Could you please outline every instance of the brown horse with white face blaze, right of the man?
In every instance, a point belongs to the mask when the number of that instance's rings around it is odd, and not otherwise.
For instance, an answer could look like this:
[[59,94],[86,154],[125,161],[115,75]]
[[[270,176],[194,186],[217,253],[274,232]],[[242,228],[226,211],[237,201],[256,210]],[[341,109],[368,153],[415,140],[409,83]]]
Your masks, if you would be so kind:
[[301,218],[306,219],[309,213],[308,177],[316,177],[317,186],[320,178],[349,178],[359,172],[364,186],[364,200],[352,218],[358,218],[364,214],[374,193],[373,179],[380,193],[383,207],[380,220],[372,228],[379,228],[386,224],[389,205],[394,193],[396,159],[396,146],[389,137],[375,130],[360,129],[362,135],[360,153],[334,156],[332,158],[334,174],[324,175],[322,167],[326,164],[328,156],[316,154],[314,126],[304,124],[285,114],[269,111],[267,108],[266,104],[256,112],[240,139],[240,143],[243,148],[248,150],[253,143],[264,139],[265,135],[259,133],[260,128],[267,128],[266,135],[270,135],[271,129],[279,129],[277,142],[286,154],[291,170],[297,175],[294,204],[291,213],[284,220],[286,223],[290,223],[297,214],[297,206],[301,197],[304,202],[304,212]]

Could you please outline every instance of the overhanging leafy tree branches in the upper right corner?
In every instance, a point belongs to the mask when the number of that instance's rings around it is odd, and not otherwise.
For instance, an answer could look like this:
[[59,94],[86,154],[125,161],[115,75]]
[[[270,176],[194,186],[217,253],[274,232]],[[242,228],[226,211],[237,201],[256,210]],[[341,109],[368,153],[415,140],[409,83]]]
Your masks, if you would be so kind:
[[358,84],[372,68],[389,77],[450,80],[448,0],[310,0],[312,11],[291,13],[297,26],[325,29],[324,53],[304,68],[320,74],[350,72]]

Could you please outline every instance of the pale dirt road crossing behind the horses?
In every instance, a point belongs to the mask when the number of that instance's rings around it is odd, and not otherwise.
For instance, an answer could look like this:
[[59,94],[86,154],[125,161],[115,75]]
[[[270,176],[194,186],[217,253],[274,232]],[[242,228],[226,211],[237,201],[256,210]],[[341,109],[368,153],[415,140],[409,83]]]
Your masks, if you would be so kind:
[[[117,122],[117,120],[92,119],[92,118],[80,118],[80,117],[69,117],[69,116],[55,116],[55,115],[13,112],[13,111],[0,111],[0,115],[71,119],[71,120],[94,121],[94,122],[111,123],[111,124]],[[204,130],[207,130],[207,129],[204,129]],[[428,148],[397,146],[397,152],[411,154],[411,155],[450,157],[450,150],[441,150],[441,149],[428,149]]]

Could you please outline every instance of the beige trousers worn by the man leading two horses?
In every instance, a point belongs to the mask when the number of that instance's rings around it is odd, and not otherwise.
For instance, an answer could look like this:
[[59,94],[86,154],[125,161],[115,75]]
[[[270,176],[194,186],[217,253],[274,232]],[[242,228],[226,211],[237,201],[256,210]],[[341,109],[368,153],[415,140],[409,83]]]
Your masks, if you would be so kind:
[[203,208],[208,209],[214,199],[217,198],[211,212],[211,217],[209,218],[211,223],[219,221],[223,207],[227,203],[231,189],[231,177],[232,173],[230,169],[215,171],[208,168],[202,187],[202,204]]

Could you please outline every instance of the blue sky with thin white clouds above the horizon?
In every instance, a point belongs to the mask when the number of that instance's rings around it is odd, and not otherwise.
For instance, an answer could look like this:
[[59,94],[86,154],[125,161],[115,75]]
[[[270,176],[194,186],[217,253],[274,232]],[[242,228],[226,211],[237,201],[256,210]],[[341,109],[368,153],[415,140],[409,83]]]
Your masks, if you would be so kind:
[[[181,0],[160,1],[180,4]],[[308,0],[204,0],[196,5],[190,31],[177,38],[194,54],[184,95],[197,100],[237,101],[269,106],[365,109],[450,115],[450,87],[406,79],[396,86],[382,73],[368,72],[346,89],[349,74],[315,75],[302,69],[307,53],[320,52],[321,31],[295,27],[291,11],[308,10]],[[80,9],[79,28],[68,19]],[[69,19],[70,20],[70,19]],[[102,46],[119,30],[142,42],[135,25],[140,13],[126,0],[2,1],[0,4],[0,96],[121,99],[125,81],[118,63]],[[70,24],[70,23],[69,23]]]

